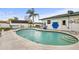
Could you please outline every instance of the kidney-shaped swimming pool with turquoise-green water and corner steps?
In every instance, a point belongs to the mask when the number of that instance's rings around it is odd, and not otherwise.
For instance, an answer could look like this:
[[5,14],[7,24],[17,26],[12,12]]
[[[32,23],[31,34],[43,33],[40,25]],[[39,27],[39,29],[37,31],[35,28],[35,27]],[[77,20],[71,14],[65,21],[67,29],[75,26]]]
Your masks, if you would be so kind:
[[45,45],[70,45],[78,42],[78,39],[74,36],[60,32],[24,29],[16,31],[16,34],[25,39]]

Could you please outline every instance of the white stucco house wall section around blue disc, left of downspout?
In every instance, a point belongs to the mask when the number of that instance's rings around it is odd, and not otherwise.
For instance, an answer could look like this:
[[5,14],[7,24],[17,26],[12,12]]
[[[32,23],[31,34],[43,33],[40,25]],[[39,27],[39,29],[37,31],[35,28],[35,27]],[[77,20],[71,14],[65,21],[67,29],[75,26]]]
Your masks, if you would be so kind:
[[[47,24],[47,20],[51,20],[51,24]],[[59,27],[58,27],[58,29],[67,29],[67,27],[68,27],[68,25],[62,25],[62,20],[66,20],[66,24],[68,24],[68,20],[67,20],[67,18],[66,17],[64,17],[64,18],[53,18],[53,19],[47,19],[47,20],[43,20],[43,23],[46,23],[47,24],[47,28],[48,29],[54,29],[53,27],[52,27],[52,23],[53,22],[58,22],[58,24],[59,24]]]

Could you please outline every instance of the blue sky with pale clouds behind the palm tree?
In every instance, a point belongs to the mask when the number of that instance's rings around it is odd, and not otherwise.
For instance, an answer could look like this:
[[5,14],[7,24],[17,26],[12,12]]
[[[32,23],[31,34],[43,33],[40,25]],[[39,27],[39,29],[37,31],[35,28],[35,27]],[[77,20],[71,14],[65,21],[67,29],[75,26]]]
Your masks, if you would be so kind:
[[[0,20],[8,20],[13,17],[18,17],[19,20],[24,20],[28,9],[29,8],[0,8]],[[79,11],[79,8],[35,8],[35,12],[40,15],[40,19],[67,13],[68,10],[76,12]],[[35,19],[35,21],[38,20]]]

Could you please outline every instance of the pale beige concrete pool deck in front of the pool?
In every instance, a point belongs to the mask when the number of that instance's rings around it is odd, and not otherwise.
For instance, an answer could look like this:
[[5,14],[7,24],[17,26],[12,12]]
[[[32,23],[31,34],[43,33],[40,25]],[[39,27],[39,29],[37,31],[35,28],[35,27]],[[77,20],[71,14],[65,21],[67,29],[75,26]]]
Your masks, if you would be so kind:
[[79,42],[64,46],[43,45],[24,39],[10,30],[4,31],[0,37],[0,50],[79,50]]

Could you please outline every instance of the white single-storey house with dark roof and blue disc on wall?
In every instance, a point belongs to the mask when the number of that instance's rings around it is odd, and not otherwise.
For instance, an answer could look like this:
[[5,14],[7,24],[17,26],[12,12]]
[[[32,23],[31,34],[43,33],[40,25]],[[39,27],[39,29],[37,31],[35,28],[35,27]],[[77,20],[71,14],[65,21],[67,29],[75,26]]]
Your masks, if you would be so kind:
[[79,12],[60,14],[40,19],[48,29],[79,31]]

